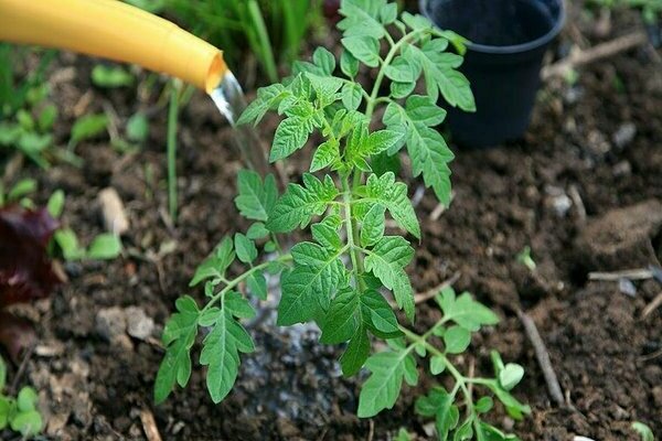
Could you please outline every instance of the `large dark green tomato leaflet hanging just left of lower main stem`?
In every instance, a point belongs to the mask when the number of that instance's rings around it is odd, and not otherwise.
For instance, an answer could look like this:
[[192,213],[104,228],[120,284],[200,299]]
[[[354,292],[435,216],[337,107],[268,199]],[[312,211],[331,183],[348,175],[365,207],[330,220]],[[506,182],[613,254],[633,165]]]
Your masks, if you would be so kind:
[[328,309],[331,297],[346,278],[339,251],[301,243],[292,247],[292,257],[295,268],[281,279],[277,321],[280,326],[307,322]]

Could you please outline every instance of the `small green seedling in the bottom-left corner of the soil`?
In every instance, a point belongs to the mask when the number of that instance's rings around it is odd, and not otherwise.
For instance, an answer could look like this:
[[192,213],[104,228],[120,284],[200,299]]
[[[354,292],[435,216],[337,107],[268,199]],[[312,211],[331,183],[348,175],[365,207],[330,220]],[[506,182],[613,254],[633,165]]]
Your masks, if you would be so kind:
[[39,434],[43,419],[38,409],[39,397],[31,387],[23,387],[17,397],[3,395],[7,366],[0,357],[0,431],[7,428],[24,438]]

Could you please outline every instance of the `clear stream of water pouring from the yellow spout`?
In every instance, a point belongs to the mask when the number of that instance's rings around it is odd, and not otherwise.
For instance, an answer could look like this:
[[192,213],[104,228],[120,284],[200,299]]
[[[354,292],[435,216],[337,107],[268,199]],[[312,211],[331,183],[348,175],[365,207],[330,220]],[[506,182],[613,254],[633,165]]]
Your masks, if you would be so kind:
[[269,164],[255,129],[250,125],[236,126],[237,119],[246,109],[246,97],[232,72],[225,74],[218,87],[212,90],[210,96],[234,128],[234,144],[242,153],[244,162],[265,176],[269,172]]

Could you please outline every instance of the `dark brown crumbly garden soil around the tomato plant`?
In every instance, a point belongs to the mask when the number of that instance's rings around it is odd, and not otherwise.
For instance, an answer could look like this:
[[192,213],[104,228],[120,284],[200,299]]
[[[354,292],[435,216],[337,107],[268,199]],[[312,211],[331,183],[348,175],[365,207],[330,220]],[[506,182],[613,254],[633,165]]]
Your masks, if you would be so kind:
[[[580,17],[564,33],[559,53],[576,32],[598,41],[596,22]],[[632,17],[619,18],[611,36],[637,25]],[[66,80],[72,66],[75,82]],[[662,202],[661,68],[642,49],[584,69],[573,86],[548,83],[525,140],[489,151],[458,151],[451,208],[430,219],[437,207],[430,192],[417,206],[424,239],[409,268],[415,287],[426,291],[459,271],[457,288],[473,292],[502,316],[501,324],[474,337],[465,363],[473,358],[480,374],[487,370],[489,349],[496,348],[504,359],[525,367],[515,395],[532,406],[533,415],[514,426],[494,417],[523,440],[638,440],[629,429],[633,421],[662,433],[662,309],[641,318],[662,284],[636,282],[637,294],[629,297],[618,282],[587,282],[589,271],[607,268],[600,256],[587,259],[578,240],[585,225],[613,209]],[[154,93],[145,90],[137,101],[135,89],[94,89],[89,69],[88,61],[65,54],[51,77],[63,141],[83,112],[110,106],[121,122],[156,103]],[[197,368],[185,390],[153,406],[160,326],[177,297],[189,292],[195,266],[223,236],[246,227],[232,203],[241,168],[232,132],[202,96],[182,111],[180,217],[171,226],[164,214],[164,114],[153,112],[150,140],[136,154],[122,157],[99,140],[78,148],[83,170],[21,171],[39,178],[41,201],[54,189],[66,192],[65,222],[84,243],[102,230],[96,196],[106,186],[119,192],[131,222],[124,258],[66,265],[68,284],[18,311],[34,322],[39,334],[20,383],[40,390],[46,439],[142,440],[150,413],[164,440],[364,440],[373,433],[375,440],[387,440],[399,427],[427,439],[428,421],[414,415],[409,388],[394,410],[360,421],[354,416],[360,381],[341,377],[338,351],[318,344],[313,327],[284,331],[269,316],[252,330],[258,352],[244,357],[237,386],[222,405],[212,404]],[[260,127],[264,140],[276,123],[269,119]],[[626,137],[632,127],[634,136]],[[297,175],[300,170],[287,172]],[[420,182],[409,181],[414,194]],[[649,236],[648,263],[659,265],[662,232],[651,228]],[[537,262],[533,272],[515,259],[525,246]],[[628,252],[623,250],[617,269],[632,268]],[[634,256],[641,258],[631,255],[632,261]],[[157,330],[146,341],[121,334],[109,342],[97,325],[99,312],[132,305],[153,319]],[[564,407],[551,401],[513,312],[517,306],[534,319],[547,344],[567,398]],[[418,315],[417,326],[424,329],[437,316],[434,303],[419,305]],[[7,432],[0,438],[12,439]]]

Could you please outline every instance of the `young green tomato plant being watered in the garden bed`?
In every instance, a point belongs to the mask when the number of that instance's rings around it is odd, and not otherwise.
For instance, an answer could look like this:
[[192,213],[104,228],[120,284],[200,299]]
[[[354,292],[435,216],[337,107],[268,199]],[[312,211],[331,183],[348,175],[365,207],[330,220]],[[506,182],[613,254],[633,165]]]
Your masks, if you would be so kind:
[[[209,392],[214,402],[225,398],[238,375],[239,354],[254,351],[241,323],[255,314],[247,297],[265,300],[265,273],[280,275],[277,323],[314,321],[321,343],[346,344],[340,358],[345,376],[364,366],[370,370],[359,417],[392,408],[403,380],[417,383],[417,359],[429,357],[431,374],[449,375],[453,384],[450,390],[440,384],[416,405],[423,416],[435,417],[439,438],[455,433],[455,440],[515,439],[483,422],[481,415],[492,407],[492,395],[515,418],[530,411],[510,394],[524,374],[522,367],[504,365],[494,355],[495,377],[472,378],[451,362],[468,348],[471,333],[495,324],[496,315],[470,294],[458,297],[448,289],[437,298],[441,320],[420,335],[398,322],[384,297],[389,291],[407,321],[414,321],[414,292],[405,271],[414,248],[403,236],[386,235],[386,215],[419,240],[420,227],[407,185],[387,165],[406,148],[414,175],[423,175],[426,186],[449,203],[448,163],[453,154],[435,130],[446,116],[437,101],[441,97],[450,106],[474,109],[469,83],[457,71],[462,56],[448,52],[452,46],[463,53],[465,40],[435,29],[421,17],[403,13],[398,19],[396,4],[386,0],[344,0],[340,13],[342,75],[337,75],[334,56],[318,49],[312,62],[295,64],[291,78],[258,90],[239,118],[239,123],[257,125],[269,110],[284,116],[271,162],[303,148],[313,132],[322,142],[302,184],[290,183],[282,195],[274,176],[239,173],[235,203],[255,223],[245,235],[225,238],[197,268],[191,286],[204,282],[205,304],[200,306],[188,295],[177,301],[178,311],[163,331],[167,353],[157,375],[156,400],[163,401],[175,384],[188,384],[201,327],[210,329],[200,355],[200,364],[207,367]],[[382,46],[388,47],[384,56]],[[367,88],[357,79],[362,66],[376,69]],[[426,94],[413,95],[421,77]],[[386,79],[389,88],[383,94]],[[377,114],[378,107],[384,111]],[[384,128],[374,131],[376,115],[383,115]],[[279,234],[309,226],[311,241],[299,243],[289,252],[281,249]],[[258,260],[257,244],[277,257]],[[236,259],[246,270],[228,278]],[[371,355],[375,338],[385,340],[389,348]],[[490,394],[474,399],[479,388]]]

